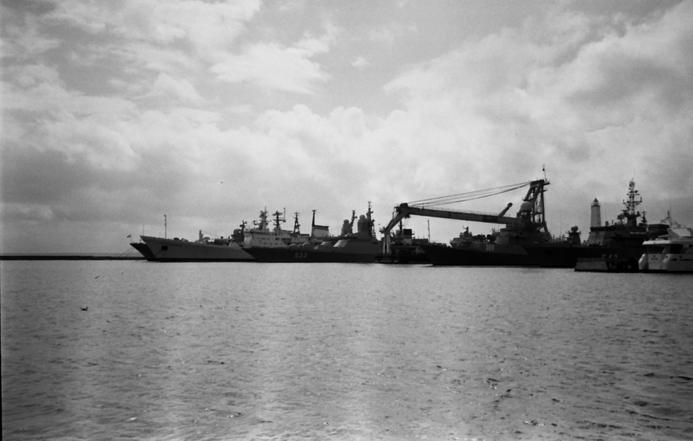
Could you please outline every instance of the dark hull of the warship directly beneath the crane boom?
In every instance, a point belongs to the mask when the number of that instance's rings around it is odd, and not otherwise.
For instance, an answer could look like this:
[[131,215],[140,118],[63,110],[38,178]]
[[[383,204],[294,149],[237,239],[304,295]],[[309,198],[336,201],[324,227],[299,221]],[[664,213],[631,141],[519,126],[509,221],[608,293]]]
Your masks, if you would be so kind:
[[435,245],[424,245],[421,248],[435,266],[532,267],[536,265],[521,246],[495,245],[488,250]]

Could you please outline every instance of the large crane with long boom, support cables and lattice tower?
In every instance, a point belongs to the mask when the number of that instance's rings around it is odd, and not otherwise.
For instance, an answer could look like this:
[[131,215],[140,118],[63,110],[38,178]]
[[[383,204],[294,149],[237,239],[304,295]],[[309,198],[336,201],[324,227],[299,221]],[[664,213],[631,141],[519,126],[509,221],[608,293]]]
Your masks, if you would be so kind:
[[[387,226],[380,230],[380,232],[383,233],[383,253],[390,253],[390,231],[392,228],[399,224],[402,219],[410,217],[411,215],[440,217],[442,219],[456,219],[468,222],[485,222],[488,224],[505,224],[507,228],[517,229],[518,231],[543,231],[548,233],[546,220],[544,217],[544,186],[547,186],[548,184],[549,182],[545,179],[538,179],[536,181],[491,188],[489,190],[459,193],[457,195],[421,199],[420,201],[413,201],[410,203],[404,202],[399,204],[394,208],[395,214],[392,217],[392,220],[389,222],[389,224],[387,224]],[[523,199],[523,204],[520,206],[520,211],[516,217],[505,216],[513,205],[512,203],[508,204],[497,215],[493,213],[453,210],[450,208],[430,208],[432,206],[453,204],[455,202],[499,195],[500,193],[509,192],[525,186],[529,186],[529,189],[527,190],[527,195]]]

